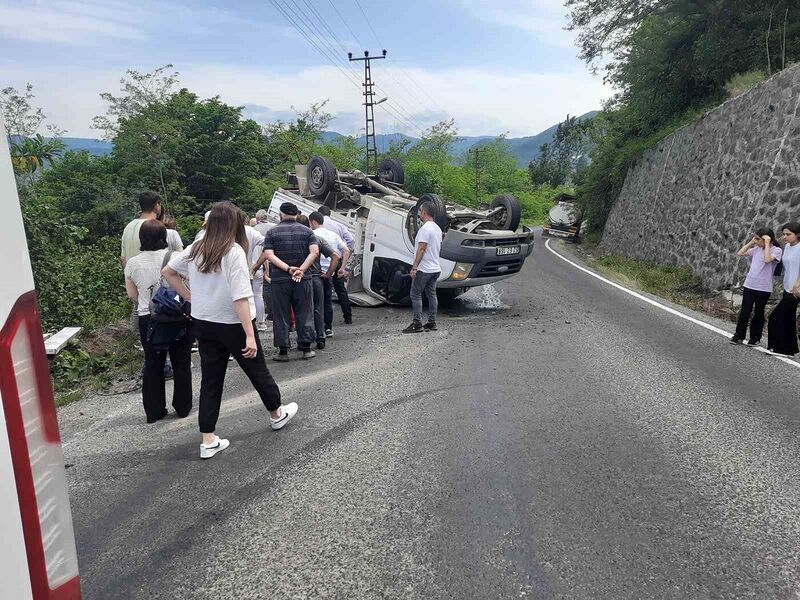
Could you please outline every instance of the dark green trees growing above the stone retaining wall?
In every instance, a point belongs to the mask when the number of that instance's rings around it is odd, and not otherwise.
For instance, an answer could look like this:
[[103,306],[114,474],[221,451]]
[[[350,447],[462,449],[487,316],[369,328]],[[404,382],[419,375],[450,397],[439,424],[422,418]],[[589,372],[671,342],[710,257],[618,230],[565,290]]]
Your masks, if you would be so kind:
[[581,57],[619,92],[588,132],[578,197],[602,231],[643,151],[800,60],[796,0],[567,0]]

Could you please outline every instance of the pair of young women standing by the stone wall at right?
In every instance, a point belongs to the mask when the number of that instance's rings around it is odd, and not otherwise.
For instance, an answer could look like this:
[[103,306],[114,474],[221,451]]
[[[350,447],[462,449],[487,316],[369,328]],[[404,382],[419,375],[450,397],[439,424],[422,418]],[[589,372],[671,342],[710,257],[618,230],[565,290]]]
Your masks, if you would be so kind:
[[758,346],[764,331],[764,313],[780,277],[783,292],[767,324],[767,350],[772,354],[794,356],[797,346],[797,305],[800,303],[800,223],[781,227],[781,248],[768,227],[756,230],[752,239],[737,252],[748,257],[750,268],[744,282],[742,308],[731,344],[743,344],[750,329],[748,346]]

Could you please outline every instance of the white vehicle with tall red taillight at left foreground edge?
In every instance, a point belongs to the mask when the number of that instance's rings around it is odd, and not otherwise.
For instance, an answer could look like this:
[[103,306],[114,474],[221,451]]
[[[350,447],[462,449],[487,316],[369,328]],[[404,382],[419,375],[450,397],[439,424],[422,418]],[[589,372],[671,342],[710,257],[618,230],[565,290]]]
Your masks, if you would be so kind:
[[64,455],[2,122],[0,210],[0,597],[77,600]]

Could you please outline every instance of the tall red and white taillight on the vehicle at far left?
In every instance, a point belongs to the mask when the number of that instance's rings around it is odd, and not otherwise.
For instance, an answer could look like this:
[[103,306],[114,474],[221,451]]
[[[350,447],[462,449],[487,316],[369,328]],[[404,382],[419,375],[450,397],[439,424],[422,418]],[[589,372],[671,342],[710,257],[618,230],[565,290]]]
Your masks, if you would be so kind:
[[33,598],[79,599],[64,454],[33,292],[17,300],[0,331],[0,394]]

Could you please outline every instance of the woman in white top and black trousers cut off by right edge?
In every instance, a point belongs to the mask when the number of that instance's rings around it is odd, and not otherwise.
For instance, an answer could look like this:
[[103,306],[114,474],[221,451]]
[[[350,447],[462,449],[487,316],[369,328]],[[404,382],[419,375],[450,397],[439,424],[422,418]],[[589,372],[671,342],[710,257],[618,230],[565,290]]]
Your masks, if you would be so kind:
[[775,354],[797,354],[797,304],[800,302],[800,223],[781,227],[784,241],[783,296],[769,316],[767,348]]

